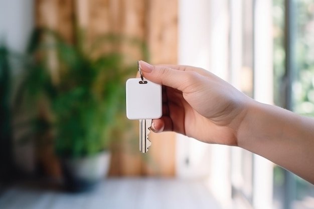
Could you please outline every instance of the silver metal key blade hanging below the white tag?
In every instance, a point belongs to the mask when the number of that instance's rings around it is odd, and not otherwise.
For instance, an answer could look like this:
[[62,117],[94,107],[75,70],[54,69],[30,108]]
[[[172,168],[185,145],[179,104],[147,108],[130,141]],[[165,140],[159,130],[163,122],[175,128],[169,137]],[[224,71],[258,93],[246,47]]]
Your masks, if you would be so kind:
[[141,119],[139,120],[139,151],[145,153],[148,151],[148,147],[151,142],[148,139],[148,134],[150,133],[151,119]]

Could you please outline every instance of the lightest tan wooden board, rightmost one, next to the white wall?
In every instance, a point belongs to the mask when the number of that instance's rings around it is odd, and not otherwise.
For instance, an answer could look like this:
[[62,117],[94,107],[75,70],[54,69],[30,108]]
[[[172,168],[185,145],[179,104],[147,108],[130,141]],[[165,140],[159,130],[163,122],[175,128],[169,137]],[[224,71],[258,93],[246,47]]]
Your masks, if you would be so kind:
[[[146,38],[152,64],[177,64],[178,60],[178,1],[148,1]],[[146,163],[147,175],[174,176],[176,166],[176,136],[174,133],[150,133]]]

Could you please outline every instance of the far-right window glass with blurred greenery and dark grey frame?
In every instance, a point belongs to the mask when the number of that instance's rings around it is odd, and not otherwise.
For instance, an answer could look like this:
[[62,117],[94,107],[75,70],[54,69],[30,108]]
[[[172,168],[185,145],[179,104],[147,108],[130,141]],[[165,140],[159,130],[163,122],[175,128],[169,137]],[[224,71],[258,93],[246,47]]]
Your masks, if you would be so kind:
[[[298,114],[314,116],[314,2],[273,0],[274,101]],[[284,98],[279,95],[285,95]],[[314,186],[274,167],[275,208],[314,205]]]

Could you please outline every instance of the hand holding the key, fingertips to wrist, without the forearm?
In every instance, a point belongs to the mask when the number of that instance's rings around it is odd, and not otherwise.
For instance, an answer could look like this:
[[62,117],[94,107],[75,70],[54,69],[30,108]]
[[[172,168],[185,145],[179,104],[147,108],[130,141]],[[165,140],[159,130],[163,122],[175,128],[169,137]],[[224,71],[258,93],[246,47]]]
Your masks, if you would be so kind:
[[154,132],[175,131],[207,143],[237,145],[252,99],[200,68],[143,61],[140,67],[147,80],[163,85],[163,116],[152,120]]

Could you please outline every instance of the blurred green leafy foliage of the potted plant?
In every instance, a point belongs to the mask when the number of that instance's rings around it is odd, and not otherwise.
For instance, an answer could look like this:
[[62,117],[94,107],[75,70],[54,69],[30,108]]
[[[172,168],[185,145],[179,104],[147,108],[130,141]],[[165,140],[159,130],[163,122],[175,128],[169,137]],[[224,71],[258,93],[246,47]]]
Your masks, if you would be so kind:
[[53,117],[36,127],[52,127],[57,154],[70,157],[107,149],[113,130],[121,127],[125,80],[137,69],[134,59],[120,52],[121,46],[133,46],[147,55],[143,42],[123,36],[105,35],[88,44],[80,32],[75,40],[69,44],[54,31],[36,29],[21,85],[29,98],[49,101]]

